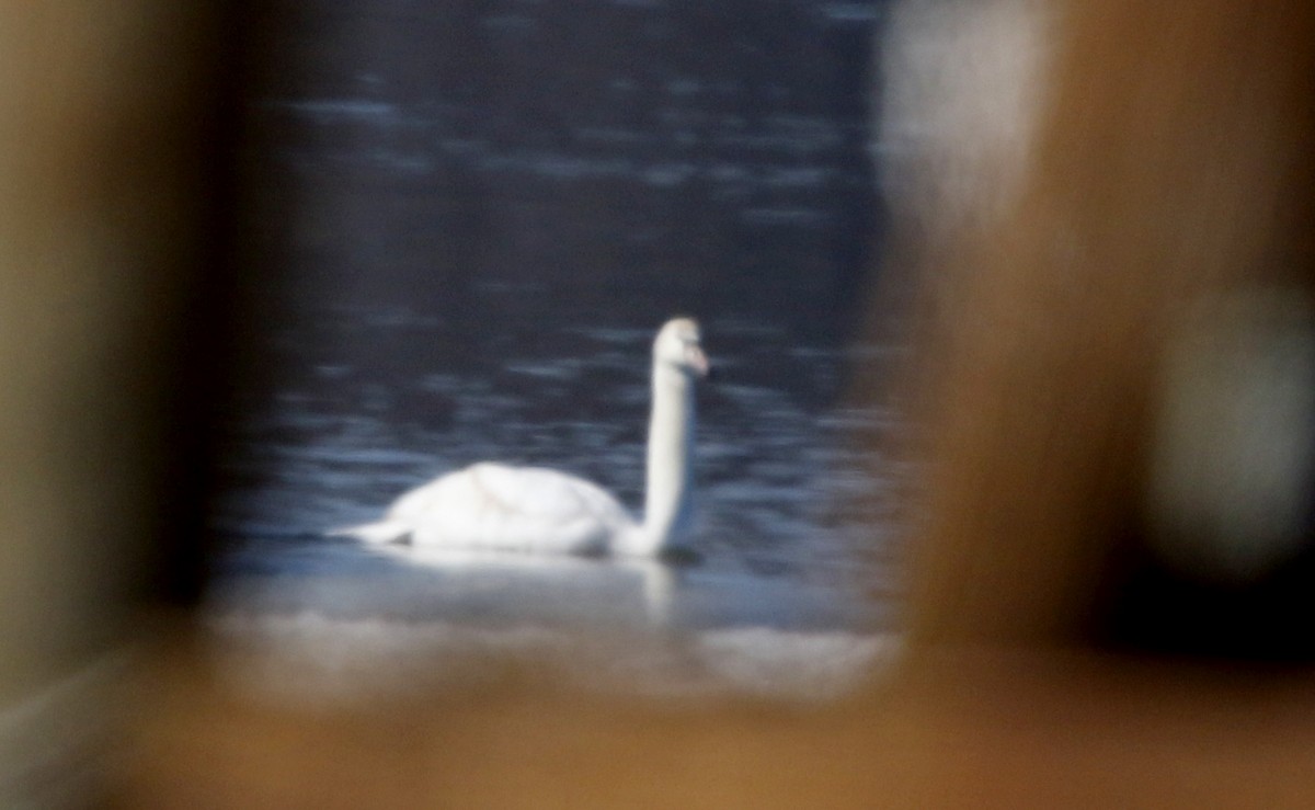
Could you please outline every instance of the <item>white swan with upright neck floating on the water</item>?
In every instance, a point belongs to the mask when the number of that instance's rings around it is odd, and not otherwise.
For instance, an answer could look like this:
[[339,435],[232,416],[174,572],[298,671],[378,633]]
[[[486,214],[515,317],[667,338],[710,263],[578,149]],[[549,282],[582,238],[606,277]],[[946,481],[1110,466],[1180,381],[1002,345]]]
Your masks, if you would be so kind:
[[643,522],[583,479],[483,462],[405,493],[376,523],[330,534],[535,554],[656,556],[679,550],[693,512],[694,377],[706,375],[698,323],[675,318],[663,325],[654,339]]

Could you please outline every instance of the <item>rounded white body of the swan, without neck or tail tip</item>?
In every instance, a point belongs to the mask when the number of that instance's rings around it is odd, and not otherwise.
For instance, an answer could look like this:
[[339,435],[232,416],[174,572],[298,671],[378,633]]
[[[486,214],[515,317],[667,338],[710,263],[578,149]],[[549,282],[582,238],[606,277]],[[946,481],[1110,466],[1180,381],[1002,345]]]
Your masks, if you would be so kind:
[[554,469],[480,463],[414,489],[379,526],[416,546],[597,554],[634,519],[602,488]]

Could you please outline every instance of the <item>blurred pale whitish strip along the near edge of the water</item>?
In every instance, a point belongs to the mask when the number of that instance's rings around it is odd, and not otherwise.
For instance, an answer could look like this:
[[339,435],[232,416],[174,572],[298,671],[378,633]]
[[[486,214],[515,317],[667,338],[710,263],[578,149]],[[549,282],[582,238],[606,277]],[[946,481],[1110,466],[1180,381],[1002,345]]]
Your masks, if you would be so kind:
[[586,632],[334,619],[318,613],[212,618],[221,676],[284,703],[387,700],[533,672],[648,698],[753,697],[815,702],[878,675],[896,636],[771,627],[671,634]]

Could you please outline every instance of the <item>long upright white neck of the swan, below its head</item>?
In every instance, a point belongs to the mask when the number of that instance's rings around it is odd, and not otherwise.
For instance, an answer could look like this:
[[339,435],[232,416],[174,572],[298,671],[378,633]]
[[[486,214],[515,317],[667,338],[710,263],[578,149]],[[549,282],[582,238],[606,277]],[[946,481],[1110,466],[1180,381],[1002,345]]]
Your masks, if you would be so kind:
[[658,554],[689,530],[693,518],[693,381],[681,371],[655,364],[644,522],[639,536],[633,539],[633,552]]

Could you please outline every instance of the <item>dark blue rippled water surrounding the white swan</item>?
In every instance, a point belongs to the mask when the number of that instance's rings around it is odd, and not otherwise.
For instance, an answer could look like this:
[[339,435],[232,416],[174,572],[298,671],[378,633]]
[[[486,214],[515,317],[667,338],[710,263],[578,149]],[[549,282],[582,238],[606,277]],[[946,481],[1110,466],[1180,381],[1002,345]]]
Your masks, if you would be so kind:
[[[882,3],[276,3],[251,64],[221,613],[872,630],[890,426],[868,160]],[[642,502],[648,345],[704,325],[704,561],[321,539],[481,459]],[[317,618],[316,621],[320,621]],[[400,625],[398,625],[400,626]]]

